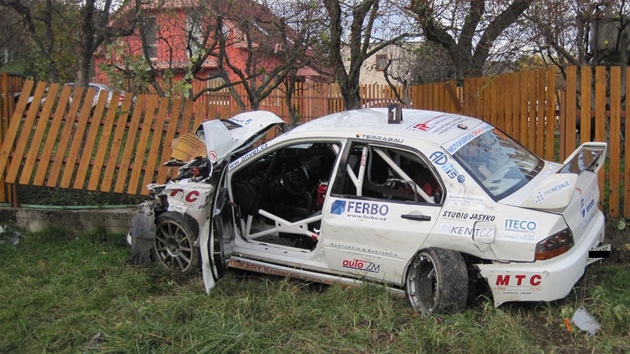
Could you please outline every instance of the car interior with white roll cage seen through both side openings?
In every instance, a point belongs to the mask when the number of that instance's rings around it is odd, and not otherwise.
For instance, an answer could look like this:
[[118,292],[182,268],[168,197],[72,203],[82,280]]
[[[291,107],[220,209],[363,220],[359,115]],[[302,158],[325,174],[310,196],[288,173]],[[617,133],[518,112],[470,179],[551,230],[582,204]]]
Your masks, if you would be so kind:
[[[302,143],[263,156],[232,177],[231,189],[246,240],[312,250],[339,145]],[[361,163],[365,161],[365,163]],[[354,143],[335,187],[342,196],[408,203],[441,203],[442,186],[418,155]]]

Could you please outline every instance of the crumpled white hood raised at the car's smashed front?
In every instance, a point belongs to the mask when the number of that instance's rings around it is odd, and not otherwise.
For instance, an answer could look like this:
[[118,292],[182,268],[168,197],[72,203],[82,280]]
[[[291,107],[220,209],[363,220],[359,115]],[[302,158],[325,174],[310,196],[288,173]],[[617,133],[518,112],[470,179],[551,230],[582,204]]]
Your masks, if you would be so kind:
[[197,136],[206,143],[208,159],[221,163],[228,154],[248,148],[274,126],[286,130],[286,123],[271,112],[246,112],[230,119],[204,122],[197,129]]

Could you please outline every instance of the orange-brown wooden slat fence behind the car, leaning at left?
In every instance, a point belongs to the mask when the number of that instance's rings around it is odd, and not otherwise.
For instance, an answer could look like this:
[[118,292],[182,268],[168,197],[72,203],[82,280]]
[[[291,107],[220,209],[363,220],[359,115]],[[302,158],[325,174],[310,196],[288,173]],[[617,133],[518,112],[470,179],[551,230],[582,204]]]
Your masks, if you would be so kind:
[[[454,82],[413,86],[406,96],[413,108],[484,119],[548,160],[562,161],[583,141],[608,141],[610,159],[600,176],[607,212],[630,217],[623,123],[628,84],[621,87],[621,76],[621,69],[615,67],[572,67],[564,82],[548,69],[471,78],[461,87]],[[45,100],[40,107],[26,109],[29,96],[33,102]],[[71,92],[69,87],[27,81],[11,124],[3,130],[0,178],[8,186],[146,194],[146,184],[164,181],[169,173],[161,163],[169,158],[174,137],[204,120],[240,112],[226,91],[204,95],[194,103],[153,95],[138,95],[134,102],[126,95],[121,107],[116,107],[116,94],[109,106],[105,95],[95,106],[93,97],[90,89]],[[385,106],[395,96],[389,87],[362,86],[361,97],[366,106]],[[335,85],[299,86],[292,104],[302,121],[344,109]],[[288,120],[281,90],[260,108]],[[10,188],[1,192],[0,201],[11,200]]]

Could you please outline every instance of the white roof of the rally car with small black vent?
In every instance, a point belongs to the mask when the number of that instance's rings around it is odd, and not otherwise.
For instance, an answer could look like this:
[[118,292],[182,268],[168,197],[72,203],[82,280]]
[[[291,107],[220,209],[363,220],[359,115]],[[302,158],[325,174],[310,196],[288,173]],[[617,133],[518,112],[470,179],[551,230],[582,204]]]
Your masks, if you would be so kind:
[[443,145],[466,132],[473,131],[481,123],[483,122],[480,119],[460,114],[402,109],[402,121],[390,124],[387,108],[370,108],[317,118],[292,129],[285,136],[363,138],[379,141],[396,141],[394,139],[402,138]]

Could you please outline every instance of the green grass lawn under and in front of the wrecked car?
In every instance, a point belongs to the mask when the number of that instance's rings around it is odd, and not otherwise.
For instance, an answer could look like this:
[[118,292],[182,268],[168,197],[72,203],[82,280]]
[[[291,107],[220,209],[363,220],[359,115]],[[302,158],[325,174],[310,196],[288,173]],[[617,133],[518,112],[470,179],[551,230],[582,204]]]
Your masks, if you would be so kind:
[[[228,272],[127,263],[124,235],[48,229],[0,244],[0,353],[623,353],[630,352],[630,257],[589,268],[564,300],[477,299],[420,318],[377,285],[323,287]],[[625,238],[627,239],[627,238]],[[583,306],[593,336],[565,318]]]

